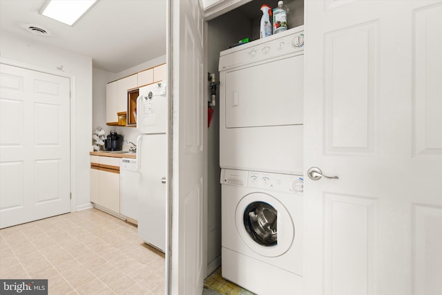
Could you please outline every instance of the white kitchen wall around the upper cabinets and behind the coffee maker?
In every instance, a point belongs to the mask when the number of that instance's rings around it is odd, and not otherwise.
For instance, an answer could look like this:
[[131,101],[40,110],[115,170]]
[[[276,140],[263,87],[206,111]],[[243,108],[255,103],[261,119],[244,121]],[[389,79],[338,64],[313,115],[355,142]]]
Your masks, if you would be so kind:
[[[110,73],[106,72],[105,70],[93,68],[93,123],[90,134],[93,133],[97,126],[101,126],[104,131],[106,131],[106,135],[109,134],[111,130],[115,130],[118,134],[123,135],[124,140],[128,140],[136,144],[138,136],[137,129],[133,127],[106,125],[106,84],[117,79],[121,79],[122,77],[132,75],[133,73],[146,70],[147,68],[153,68],[159,64],[164,64],[165,62],[166,55],[163,55],[132,68],[128,68],[127,70],[123,70],[119,73]],[[90,142],[91,144],[93,143],[92,139]],[[129,146],[132,146],[132,144],[126,144],[126,142],[123,142],[123,150],[128,150]]]

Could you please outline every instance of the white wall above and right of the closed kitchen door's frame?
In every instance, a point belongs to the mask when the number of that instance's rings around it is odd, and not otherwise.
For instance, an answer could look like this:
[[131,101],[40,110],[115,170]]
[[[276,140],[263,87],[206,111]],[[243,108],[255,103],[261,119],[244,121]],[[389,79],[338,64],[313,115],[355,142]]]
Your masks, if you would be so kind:
[[22,39],[8,32],[0,32],[0,57],[37,68],[45,68],[52,73],[63,66],[66,74],[71,75],[73,85],[74,115],[71,122],[73,140],[72,187],[73,211],[90,207],[89,151],[91,149],[90,125],[92,124],[92,59],[46,46],[37,41]]

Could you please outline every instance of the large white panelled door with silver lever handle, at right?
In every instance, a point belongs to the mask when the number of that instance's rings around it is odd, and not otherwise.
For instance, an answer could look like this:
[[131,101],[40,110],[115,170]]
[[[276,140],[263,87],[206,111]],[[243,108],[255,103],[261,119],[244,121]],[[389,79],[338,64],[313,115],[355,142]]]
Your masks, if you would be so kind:
[[305,21],[305,294],[442,294],[442,2]]

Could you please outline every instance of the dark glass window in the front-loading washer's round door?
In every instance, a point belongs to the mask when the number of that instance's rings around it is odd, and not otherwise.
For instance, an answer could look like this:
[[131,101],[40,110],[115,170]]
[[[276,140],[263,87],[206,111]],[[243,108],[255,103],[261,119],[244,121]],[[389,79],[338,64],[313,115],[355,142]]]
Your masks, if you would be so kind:
[[278,244],[278,211],[266,202],[252,202],[244,210],[244,227],[258,244],[271,247]]

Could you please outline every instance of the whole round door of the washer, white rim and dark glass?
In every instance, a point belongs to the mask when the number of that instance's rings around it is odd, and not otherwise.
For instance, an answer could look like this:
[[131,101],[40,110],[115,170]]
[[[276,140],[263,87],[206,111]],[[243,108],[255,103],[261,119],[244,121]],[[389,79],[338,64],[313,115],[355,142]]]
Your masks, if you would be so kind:
[[249,193],[235,212],[236,229],[244,243],[266,257],[285,254],[295,238],[293,220],[284,205],[267,193]]

